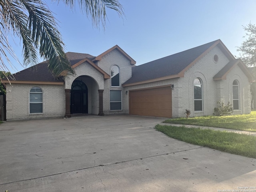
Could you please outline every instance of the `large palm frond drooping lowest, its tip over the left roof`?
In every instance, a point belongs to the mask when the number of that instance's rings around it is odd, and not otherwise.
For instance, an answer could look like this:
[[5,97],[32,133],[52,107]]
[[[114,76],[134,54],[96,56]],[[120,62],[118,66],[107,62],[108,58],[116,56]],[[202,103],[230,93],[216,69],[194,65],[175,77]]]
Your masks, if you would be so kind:
[[39,54],[48,60],[48,68],[55,76],[74,74],[74,69],[66,57],[60,32],[55,18],[41,0],[20,0],[28,11],[28,29],[39,48]]

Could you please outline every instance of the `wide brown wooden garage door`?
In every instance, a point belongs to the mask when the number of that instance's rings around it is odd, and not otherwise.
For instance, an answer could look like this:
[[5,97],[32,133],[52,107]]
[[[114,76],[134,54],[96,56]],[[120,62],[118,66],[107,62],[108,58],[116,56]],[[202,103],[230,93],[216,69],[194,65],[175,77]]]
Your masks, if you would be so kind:
[[171,87],[129,91],[129,113],[131,115],[171,118]]

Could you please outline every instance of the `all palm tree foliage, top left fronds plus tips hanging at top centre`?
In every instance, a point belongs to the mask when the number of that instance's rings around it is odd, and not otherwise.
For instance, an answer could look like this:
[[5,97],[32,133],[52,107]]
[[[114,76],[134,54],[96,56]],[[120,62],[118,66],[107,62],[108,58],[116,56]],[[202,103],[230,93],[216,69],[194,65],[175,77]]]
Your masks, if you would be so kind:
[[[60,0],[57,1],[59,3]],[[63,0],[74,9],[77,3],[93,25],[105,26],[106,8],[115,10],[120,17],[123,8],[119,0]],[[6,70],[3,58],[8,54],[16,58],[8,36],[18,36],[23,43],[24,66],[38,63],[38,53],[48,60],[48,68],[54,76],[74,74],[65,53],[64,43],[57,29],[57,22],[47,4],[42,0],[0,0],[0,70]]]

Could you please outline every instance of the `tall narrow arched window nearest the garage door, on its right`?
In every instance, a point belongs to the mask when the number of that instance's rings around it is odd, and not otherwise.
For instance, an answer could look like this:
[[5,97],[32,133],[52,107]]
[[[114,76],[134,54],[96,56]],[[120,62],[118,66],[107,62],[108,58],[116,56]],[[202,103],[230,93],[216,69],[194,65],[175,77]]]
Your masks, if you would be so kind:
[[195,78],[194,80],[194,110],[203,110],[202,82],[199,78]]

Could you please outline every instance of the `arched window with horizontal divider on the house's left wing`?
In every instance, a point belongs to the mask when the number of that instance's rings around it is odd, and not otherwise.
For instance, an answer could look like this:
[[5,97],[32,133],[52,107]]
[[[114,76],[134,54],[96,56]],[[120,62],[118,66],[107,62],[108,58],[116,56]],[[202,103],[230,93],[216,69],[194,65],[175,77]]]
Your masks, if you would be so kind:
[[40,87],[33,87],[30,90],[29,113],[43,113],[43,92]]

